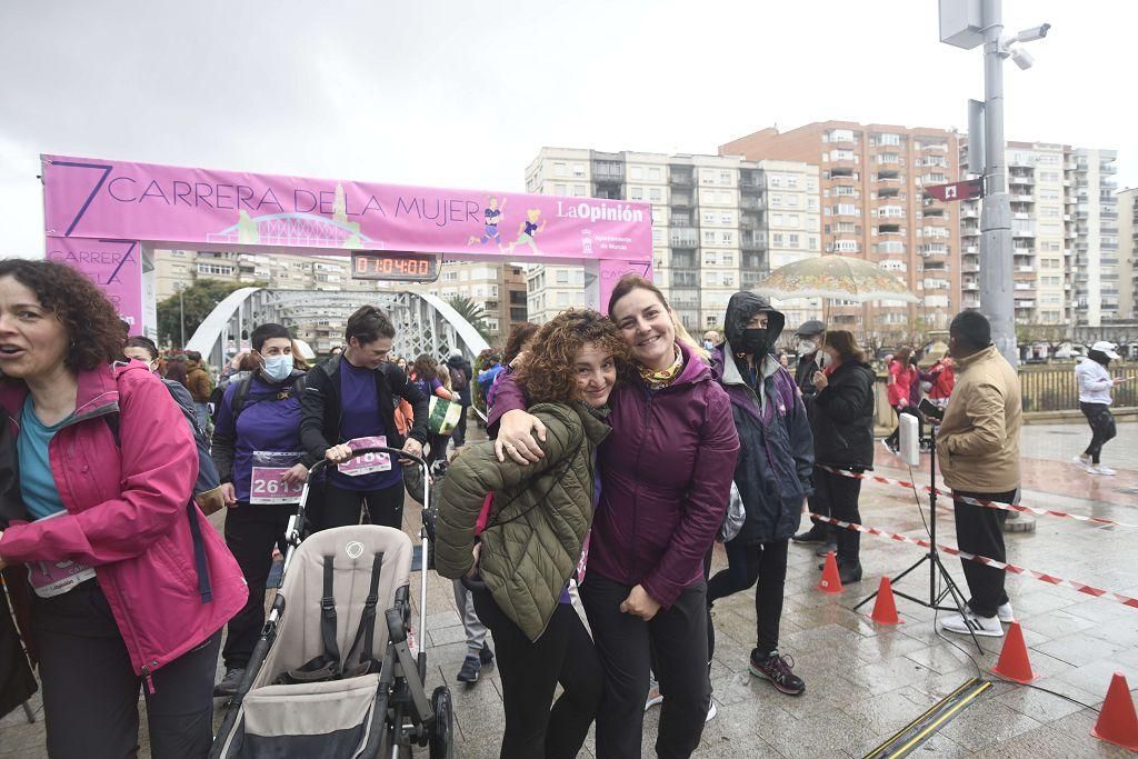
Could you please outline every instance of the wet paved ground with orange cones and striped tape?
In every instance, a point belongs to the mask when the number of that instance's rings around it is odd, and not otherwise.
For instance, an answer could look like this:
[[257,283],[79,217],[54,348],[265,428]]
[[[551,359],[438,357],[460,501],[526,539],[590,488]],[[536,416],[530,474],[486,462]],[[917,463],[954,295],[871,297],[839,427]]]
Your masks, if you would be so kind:
[[[1032,426],[1023,434],[1022,502],[1138,525],[1138,423],[1120,423],[1104,463],[1116,477],[1096,477],[1071,462],[1089,438],[1083,424]],[[901,462],[877,448],[879,473],[908,479]],[[927,467],[924,468],[925,470]],[[925,482],[926,473],[914,473]],[[409,511],[409,522],[417,518]],[[949,509],[938,509],[938,538],[955,545]],[[927,501],[918,509],[912,490],[866,482],[863,522],[924,537]],[[414,525],[409,523],[410,530]],[[1034,533],[1007,536],[1008,561],[1138,597],[1132,556],[1138,530],[1094,526],[1070,519],[1037,518]],[[711,668],[718,716],[704,732],[698,757],[860,757],[918,717],[964,680],[990,674],[1003,638],[938,634],[933,612],[898,599],[902,624],[882,627],[852,607],[876,589],[884,574],[896,576],[921,558],[922,548],[863,536],[865,579],[840,595],[815,589],[815,546],[791,546],[780,647],[793,657],[807,684],[800,696],[783,695],[747,669],[754,645],[753,592],[716,603],[716,654]],[[963,586],[959,561],[946,564]],[[725,566],[723,551],[716,568]],[[418,577],[413,578],[417,580]],[[1008,594],[1039,676],[1026,687],[997,680],[921,750],[937,757],[1123,757],[1129,752],[1090,736],[1096,712],[1115,671],[1138,693],[1138,609],[1092,597],[1025,576],[1009,575]],[[923,597],[925,569],[897,589]],[[864,612],[864,613],[863,613]],[[943,612],[940,612],[943,614]],[[448,580],[431,576],[428,601],[428,688],[447,683],[455,699],[457,757],[496,757],[503,728],[497,670],[485,669],[465,687],[455,675],[465,643]],[[1083,706],[1086,704],[1086,706]],[[40,711],[39,700],[33,701]],[[644,756],[651,756],[659,708],[644,723]],[[145,725],[145,721],[143,721]],[[143,727],[143,751],[146,748]],[[582,756],[593,756],[592,737]],[[426,754],[426,751],[422,752]],[[0,720],[0,758],[43,757],[42,723],[28,725],[19,710]]]

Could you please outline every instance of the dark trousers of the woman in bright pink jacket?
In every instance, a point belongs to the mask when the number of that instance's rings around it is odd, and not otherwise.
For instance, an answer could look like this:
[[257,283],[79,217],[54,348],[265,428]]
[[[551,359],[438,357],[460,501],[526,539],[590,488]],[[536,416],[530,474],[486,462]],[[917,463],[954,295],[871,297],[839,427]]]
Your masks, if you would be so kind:
[[[35,596],[48,753],[53,759],[133,757],[139,688],[107,599],[96,580],[51,599]],[[221,630],[162,667],[146,695],[155,757],[204,757],[213,741],[213,684]],[[151,692],[152,690],[152,692]]]

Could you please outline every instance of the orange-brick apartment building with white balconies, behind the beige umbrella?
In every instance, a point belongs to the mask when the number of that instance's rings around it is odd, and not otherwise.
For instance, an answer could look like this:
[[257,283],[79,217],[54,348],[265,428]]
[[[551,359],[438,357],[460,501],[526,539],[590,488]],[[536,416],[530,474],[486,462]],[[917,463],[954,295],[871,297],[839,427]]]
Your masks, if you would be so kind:
[[822,251],[877,263],[921,297],[914,306],[836,304],[833,321],[881,343],[947,329],[960,307],[958,209],[924,187],[959,178],[956,132],[828,121],[768,127],[719,154],[817,164]]

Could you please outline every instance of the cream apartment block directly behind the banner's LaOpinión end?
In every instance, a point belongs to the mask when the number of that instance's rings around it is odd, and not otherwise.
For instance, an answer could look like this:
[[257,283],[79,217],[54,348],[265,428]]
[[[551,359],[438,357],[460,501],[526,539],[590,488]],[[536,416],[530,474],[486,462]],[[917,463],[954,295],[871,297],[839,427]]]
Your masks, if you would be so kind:
[[[767,206],[778,185],[778,226]],[[727,300],[756,287],[780,262],[820,253],[816,166],[761,164],[739,156],[601,152],[542,148],[526,171],[526,190],[574,197],[621,198],[652,206],[654,281],[692,331],[723,323]],[[811,204],[810,197],[815,200]],[[529,315],[544,322],[582,303],[579,266],[533,265],[527,275]],[[816,316],[809,303],[787,323]]]

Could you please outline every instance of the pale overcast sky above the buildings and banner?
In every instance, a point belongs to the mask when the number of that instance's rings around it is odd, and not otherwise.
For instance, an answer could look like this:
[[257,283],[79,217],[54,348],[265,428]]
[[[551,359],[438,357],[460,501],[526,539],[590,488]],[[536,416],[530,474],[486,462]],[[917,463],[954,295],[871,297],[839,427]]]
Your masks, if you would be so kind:
[[[1138,2],[1004,15],[1053,25],[1005,66],[1008,139],[1116,148],[1138,184]],[[32,256],[41,152],[519,191],[542,146],[963,130],[983,96],[935,0],[3,0],[0,72],[0,255]]]

